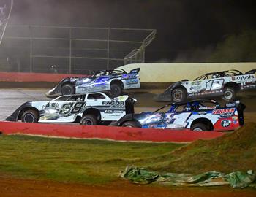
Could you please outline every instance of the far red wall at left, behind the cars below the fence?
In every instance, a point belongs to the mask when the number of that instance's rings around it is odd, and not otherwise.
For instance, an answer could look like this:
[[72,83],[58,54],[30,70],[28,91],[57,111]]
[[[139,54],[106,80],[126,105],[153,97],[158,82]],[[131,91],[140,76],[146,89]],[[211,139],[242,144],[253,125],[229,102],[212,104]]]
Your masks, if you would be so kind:
[[0,82],[59,82],[65,77],[84,77],[80,74],[51,74],[34,72],[0,72]]

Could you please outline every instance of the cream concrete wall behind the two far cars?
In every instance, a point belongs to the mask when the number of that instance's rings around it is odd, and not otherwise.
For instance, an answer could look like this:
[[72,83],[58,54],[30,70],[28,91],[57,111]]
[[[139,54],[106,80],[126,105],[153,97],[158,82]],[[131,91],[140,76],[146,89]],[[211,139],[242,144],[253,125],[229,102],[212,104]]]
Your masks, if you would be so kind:
[[132,63],[121,66],[129,71],[140,68],[140,82],[176,82],[179,80],[193,80],[207,72],[237,69],[247,72],[256,69],[256,62],[252,63]]

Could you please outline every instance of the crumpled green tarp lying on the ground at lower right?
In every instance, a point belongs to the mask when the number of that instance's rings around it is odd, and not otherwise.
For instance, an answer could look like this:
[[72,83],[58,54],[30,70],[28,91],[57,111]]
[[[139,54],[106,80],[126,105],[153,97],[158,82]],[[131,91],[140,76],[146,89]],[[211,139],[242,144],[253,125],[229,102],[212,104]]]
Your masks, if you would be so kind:
[[130,182],[138,184],[150,184],[158,182],[165,185],[178,186],[215,186],[230,185],[232,188],[254,187],[256,174],[254,171],[247,172],[234,171],[230,174],[224,174],[219,171],[207,171],[203,174],[176,174],[176,173],[158,173],[144,168],[129,167],[121,172],[121,177]]

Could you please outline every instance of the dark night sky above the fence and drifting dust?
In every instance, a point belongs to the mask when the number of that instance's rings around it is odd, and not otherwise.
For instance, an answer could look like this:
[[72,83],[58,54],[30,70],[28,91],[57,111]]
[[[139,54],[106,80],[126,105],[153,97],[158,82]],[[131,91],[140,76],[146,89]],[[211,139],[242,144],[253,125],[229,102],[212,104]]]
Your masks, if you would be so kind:
[[155,28],[146,60],[172,60],[256,29],[255,5],[254,0],[15,0],[10,23]]

